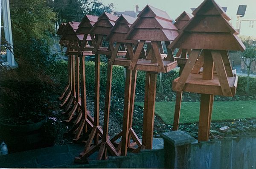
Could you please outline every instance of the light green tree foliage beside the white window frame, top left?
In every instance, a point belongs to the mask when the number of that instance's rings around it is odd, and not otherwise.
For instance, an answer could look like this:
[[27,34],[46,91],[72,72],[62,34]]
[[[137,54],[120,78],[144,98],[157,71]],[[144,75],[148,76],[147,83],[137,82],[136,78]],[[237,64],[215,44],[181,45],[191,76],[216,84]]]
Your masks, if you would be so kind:
[[33,38],[50,40],[56,13],[45,0],[10,0],[10,12],[16,46],[26,45]]

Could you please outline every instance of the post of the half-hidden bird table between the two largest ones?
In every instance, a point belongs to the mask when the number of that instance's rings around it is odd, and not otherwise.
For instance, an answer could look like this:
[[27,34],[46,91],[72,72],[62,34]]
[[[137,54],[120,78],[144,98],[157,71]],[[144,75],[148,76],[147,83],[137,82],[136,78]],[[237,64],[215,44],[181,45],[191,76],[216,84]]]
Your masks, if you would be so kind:
[[173,127],[172,127],[173,131],[176,131],[179,129],[182,93],[183,92],[177,92],[176,94],[175,112],[174,112]]

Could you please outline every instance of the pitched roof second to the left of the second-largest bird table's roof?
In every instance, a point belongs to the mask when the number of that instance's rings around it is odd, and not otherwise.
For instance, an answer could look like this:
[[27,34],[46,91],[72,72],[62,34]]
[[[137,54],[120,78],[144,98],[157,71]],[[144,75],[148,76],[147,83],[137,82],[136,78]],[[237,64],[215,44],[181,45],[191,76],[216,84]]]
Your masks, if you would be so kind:
[[108,35],[113,25],[115,25],[115,21],[117,19],[118,17],[107,12],[103,12],[99,16],[97,22],[93,25],[93,28],[90,30],[89,34]]

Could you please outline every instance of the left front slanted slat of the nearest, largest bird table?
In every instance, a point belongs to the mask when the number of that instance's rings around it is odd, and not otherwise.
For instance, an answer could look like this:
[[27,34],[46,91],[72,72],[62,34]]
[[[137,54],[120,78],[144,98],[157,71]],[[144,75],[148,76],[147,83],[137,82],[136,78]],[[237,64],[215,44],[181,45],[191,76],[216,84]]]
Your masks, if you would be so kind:
[[193,66],[195,65],[195,61],[196,59],[198,58],[200,54],[200,50],[193,50],[192,53],[191,53],[191,56],[189,57],[181,75],[180,75],[180,78],[177,82],[177,85],[175,86],[175,91],[182,91],[183,90],[183,87],[186,83],[186,80],[188,79],[189,77],[189,73],[191,72]]

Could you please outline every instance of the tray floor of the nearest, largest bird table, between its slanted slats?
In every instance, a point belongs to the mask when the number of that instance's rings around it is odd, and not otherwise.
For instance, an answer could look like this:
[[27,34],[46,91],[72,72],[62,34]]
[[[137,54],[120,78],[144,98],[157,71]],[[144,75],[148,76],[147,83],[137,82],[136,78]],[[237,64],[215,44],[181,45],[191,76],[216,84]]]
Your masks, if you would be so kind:
[[[201,93],[201,94],[210,94],[210,95],[220,95],[225,96],[222,93],[221,85],[218,79],[217,74],[213,74],[212,80],[203,80],[202,74],[194,74],[190,73],[189,77],[186,81],[186,84],[183,88],[183,91],[185,92],[192,92],[192,93]],[[172,89],[175,89],[175,86],[177,85],[177,81],[180,77],[175,79],[172,82]],[[231,89],[231,96],[235,96],[236,93],[236,87],[237,87],[237,81],[238,76],[234,77],[227,77],[230,89]]]

